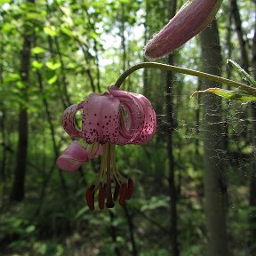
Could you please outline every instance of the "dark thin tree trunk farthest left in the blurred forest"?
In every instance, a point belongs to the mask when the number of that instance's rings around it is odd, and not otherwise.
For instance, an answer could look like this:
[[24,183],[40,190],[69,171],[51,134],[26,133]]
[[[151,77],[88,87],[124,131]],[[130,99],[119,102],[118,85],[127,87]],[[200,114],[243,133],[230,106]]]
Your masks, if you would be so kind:
[[[35,0],[28,0],[28,3],[35,4]],[[25,21],[26,22],[26,21]],[[33,28],[28,24],[24,24],[23,46],[21,50],[20,59],[20,77],[24,84],[22,90],[23,100],[26,102],[20,104],[19,113],[19,128],[18,128],[18,148],[16,155],[16,167],[14,171],[14,180],[12,186],[11,199],[15,201],[22,201],[25,196],[25,178],[27,171],[27,158],[28,158],[28,84],[29,84],[29,71],[30,71],[30,53],[31,41],[33,36]]]

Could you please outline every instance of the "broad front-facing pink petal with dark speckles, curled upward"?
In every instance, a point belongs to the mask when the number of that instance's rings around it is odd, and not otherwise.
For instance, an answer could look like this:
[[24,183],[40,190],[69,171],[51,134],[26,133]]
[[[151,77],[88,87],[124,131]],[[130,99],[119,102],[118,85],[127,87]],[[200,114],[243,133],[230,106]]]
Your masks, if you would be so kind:
[[84,101],[82,133],[87,143],[115,143],[119,137],[120,101],[109,93],[92,93]]

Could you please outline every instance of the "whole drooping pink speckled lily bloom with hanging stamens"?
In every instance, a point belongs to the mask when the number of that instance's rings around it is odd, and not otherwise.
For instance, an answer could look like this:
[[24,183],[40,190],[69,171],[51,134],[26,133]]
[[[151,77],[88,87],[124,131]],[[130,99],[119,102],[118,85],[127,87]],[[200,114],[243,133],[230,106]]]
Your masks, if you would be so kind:
[[[75,116],[83,109],[82,130],[76,129]],[[102,153],[100,176],[87,188],[85,197],[94,210],[94,196],[98,191],[99,208],[125,204],[132,197],[134,184],[126,180],[116,167],[115,145],[145,144],[156,133],[156,113],[150,101],[141,94],[124,92],[109,86],[108,92],[92,93],[79,104],[68,107],[63,116],[64,130],[87,142],[86,150],[77,141],[62,153],[57,164],[64,171],[75,171],[94,156]]]

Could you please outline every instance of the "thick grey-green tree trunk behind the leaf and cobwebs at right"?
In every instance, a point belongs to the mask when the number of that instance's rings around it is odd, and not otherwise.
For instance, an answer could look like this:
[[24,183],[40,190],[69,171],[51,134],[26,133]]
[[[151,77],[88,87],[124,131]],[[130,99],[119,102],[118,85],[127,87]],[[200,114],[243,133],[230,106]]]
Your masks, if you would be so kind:
[[[216,20],[200,35],[204,72],[220,76],[220,37]],[[207,81],[203,90],[219,87]],[[204,104],[204,196],[207,230],[207,256],[227,256],[227,184],[224,177],[223,126],[221,100],[212,94],[202,97]]]

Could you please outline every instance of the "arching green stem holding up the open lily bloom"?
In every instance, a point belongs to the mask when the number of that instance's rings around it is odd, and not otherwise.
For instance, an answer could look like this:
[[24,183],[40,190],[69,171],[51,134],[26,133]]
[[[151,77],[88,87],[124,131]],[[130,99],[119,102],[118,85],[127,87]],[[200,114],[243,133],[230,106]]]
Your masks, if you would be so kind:
[[130,76],[133,72],[135,72],[136,70],[141,69],[141,68],[158,68],[158,69],[163,69],[163,70],[166,70],[166,71],[177,72],[177,73],[180,73],[180,74],[186,74],[186,75],[190,75],[190,76],[197,76],[197,77],[200,77],[200,78],[204,78],[206,80],[214,81],[216,83],[228,84],[229,86],[233,86],[233,87],[236,87],[238,89],[242,89],[246,92],[256,94],[256,88],[252,88],[251,86],[248,86],[246,84],[238,83],[236,81],[229,80],[227,78],[220,77],[220,76],[213,76],[211,74],[196,71],[196,70],[193,70],[193,69],[180,68],[180,67],[167,65],[167,64],[162,64],[162,63],[157,63],[157,62],[142,62],[140,64],[137,64],[137,65],[133,66],[132,68],[128,68],[126,71],[124,71],[124,73],[121,76],[119,76],[119,78],[116,81],[115,86],[119,88],[124,83],[124,80],[127,78],[127,76]]

